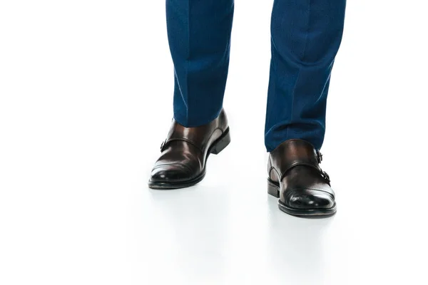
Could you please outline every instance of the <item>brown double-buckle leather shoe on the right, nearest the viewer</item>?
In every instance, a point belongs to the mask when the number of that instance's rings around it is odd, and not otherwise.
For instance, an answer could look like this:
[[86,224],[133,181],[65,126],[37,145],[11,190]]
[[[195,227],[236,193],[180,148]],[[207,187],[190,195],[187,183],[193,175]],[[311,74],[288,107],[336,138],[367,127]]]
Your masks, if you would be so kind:
[[287,140],[270,152],[267,192],[283,212],[294,216],[330,216],[336,212],[330,177],[319,163],[322,155],[305,140]]

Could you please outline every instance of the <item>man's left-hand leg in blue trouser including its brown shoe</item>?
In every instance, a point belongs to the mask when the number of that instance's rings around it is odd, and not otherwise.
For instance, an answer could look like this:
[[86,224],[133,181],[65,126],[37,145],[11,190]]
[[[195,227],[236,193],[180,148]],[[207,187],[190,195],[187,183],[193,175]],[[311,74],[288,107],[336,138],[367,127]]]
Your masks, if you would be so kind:
[[148,182],[156,189],[195,185],[210,153],[230,142],[223,95],[228,77],[233,0],[167,0],[175,71],[174,120]]

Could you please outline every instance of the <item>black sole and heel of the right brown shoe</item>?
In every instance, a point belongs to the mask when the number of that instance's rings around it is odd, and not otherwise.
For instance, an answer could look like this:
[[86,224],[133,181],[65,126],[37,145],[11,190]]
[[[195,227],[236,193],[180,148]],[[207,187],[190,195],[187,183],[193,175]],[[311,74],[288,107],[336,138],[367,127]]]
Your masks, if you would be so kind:
[[[267,178],[267,193],[273,197],[279,198],[280,184]],[[291,214],[295,217],[331,217],[336,213],[337,210],[336,203],[333,205],[333,207],[328,209],[295,209],[287,207],[281,202],[281,200],[278,200],[278,207],[282,212]]]

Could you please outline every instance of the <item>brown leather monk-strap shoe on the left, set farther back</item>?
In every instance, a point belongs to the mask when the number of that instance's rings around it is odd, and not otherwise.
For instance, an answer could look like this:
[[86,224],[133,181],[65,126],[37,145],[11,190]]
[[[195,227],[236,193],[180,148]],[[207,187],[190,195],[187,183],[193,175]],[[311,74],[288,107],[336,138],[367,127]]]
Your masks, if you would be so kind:
[[196,128],[185,128],[173,120],[148,187],[175,189],[195,185],[205,177],[208,155],[217,155],[229,142],[228,119],[224,110],[215,120]]

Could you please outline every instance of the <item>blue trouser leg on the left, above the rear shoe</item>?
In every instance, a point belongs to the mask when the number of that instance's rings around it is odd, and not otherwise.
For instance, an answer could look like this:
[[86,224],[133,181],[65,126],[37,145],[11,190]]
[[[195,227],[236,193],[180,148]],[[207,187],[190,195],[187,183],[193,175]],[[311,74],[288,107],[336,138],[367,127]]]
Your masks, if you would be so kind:
[[228,76],[233,0],[167,0],[175,68],[174,118],[185,127],[220,114]]

